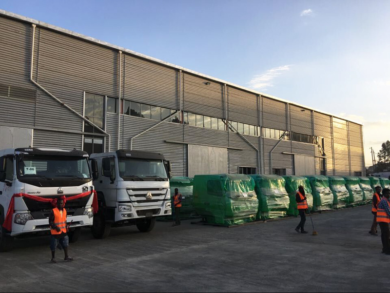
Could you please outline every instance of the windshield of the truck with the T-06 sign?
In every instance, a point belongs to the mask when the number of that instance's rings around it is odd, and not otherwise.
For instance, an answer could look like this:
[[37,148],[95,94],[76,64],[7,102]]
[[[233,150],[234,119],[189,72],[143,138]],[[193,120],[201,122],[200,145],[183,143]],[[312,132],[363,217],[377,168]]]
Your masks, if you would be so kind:
[[18,176],[51,179],[90,179],[88,159],[82,156],[24,155],[18,163]]

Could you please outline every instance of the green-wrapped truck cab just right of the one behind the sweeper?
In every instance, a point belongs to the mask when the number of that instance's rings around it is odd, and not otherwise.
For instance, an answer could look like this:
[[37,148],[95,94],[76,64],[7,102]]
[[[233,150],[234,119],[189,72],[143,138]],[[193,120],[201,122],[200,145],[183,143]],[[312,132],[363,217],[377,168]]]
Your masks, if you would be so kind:
[[331,210],[333,206],[333,194],[329,188],[327,176],[305,176],[310,181],[313,195],[313,211]]

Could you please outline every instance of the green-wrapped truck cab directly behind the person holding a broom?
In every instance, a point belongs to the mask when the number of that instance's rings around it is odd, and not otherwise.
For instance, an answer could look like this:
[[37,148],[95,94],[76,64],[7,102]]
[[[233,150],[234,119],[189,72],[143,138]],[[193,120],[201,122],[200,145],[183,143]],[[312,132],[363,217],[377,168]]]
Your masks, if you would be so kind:
[[287,211],[287,215],[298,215],[298,208],[296,205],[296,194],[298,193],[298,187],[303,186],[305,189],[305,195],[307,197],[307,202],[309,209],[313,208],[313,195],[312,187],[310,186],[310,181],[306,177],[302,176],[283,176],[286,181],[286,191],[290,197],[290,205]]

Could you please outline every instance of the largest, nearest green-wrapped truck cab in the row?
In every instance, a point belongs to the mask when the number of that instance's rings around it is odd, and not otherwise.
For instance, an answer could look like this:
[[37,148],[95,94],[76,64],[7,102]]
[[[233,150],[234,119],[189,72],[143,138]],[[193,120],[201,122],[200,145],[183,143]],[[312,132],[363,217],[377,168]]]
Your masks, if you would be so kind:
[[208,223],[238,225],[256,219],[254,180],[243,174],[196,175],[194,208]]

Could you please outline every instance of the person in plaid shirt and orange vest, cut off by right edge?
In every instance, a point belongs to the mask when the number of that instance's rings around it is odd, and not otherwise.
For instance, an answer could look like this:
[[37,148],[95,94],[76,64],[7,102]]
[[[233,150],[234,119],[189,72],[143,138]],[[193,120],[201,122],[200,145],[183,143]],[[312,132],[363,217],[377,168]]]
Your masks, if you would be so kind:
[[378,204],[378,211],[376,212],[376,221],[381,228],[382,238],[382,253],[390,255],[390,189],[383,189],[383,197]]

